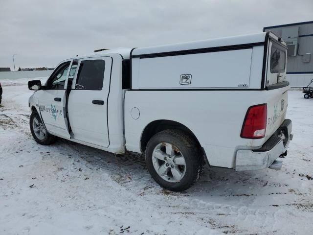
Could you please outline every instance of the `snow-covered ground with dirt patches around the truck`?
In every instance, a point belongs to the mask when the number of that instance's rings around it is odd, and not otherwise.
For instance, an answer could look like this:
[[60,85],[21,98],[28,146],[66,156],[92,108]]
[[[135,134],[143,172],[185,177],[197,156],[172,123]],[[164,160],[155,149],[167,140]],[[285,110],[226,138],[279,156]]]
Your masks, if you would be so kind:
[[26,81],[0,81],[1,235],[309,235],[313,99],[290,91],[294,138],[281,170],[206,168],[183,193],[160,188],[144,157],[70,141],[37,144]]

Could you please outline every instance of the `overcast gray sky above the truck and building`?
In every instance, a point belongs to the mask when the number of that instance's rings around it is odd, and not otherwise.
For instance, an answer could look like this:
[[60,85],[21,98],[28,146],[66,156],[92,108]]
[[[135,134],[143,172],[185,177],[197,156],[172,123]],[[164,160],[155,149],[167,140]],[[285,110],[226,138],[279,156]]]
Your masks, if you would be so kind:
[[262,32],[313,21],[313,0],[0,0],[0,67],[52,67],[97,48]]

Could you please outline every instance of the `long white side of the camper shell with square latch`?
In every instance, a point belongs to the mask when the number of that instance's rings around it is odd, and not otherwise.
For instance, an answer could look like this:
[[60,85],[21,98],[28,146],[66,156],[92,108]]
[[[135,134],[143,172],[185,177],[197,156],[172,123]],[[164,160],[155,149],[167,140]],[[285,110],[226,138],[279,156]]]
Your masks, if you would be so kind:
[[[264,42],[262,33],[136,48],[132,89],[260,89]],[[190,80],[173,79],[181,74]]]

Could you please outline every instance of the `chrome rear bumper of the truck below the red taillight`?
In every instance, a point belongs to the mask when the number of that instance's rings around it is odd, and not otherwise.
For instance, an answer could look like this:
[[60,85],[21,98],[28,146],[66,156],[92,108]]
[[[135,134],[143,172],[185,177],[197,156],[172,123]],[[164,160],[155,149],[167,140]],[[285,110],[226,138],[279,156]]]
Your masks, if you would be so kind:
[[[238,150],[236,153],[235,170],[261,170],[269,167],[287,151],[292,140],[292,122],[285,119],[277,131],[260,148],[255,150]],[[278,137],[281,132],[285,139]]]

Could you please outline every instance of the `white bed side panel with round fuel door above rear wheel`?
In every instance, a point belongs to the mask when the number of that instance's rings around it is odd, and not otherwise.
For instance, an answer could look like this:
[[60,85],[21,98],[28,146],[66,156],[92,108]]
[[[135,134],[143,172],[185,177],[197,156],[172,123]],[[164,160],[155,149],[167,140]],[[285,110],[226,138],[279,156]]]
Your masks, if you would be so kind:
[[[204,148],[210,165],[233,168],[237,149],[261,146],[266,138],[240,137],[248,107],[267,103],[273,91],[127,91],[125,95],[126,148],[141,152],[140,138],[152,121],[167,119],[188,127]],[[270,104],[271,105],[271,104]],[[134,119],[131,110],[139,109]],[[283,118],[284,115],[280,118]],[[276,123],[276,122],[275,122]],[[275,128],[275,124],[272,128]]]

